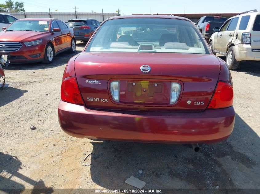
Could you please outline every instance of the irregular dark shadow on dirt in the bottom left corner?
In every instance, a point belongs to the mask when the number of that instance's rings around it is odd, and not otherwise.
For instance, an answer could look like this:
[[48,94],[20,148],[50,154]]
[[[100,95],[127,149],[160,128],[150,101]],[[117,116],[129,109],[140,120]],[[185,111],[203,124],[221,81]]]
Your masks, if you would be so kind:
[[51,187],[46,187],[42,180],[34,181],[30,177],[26,177],[18,171],[22,169],[22,162],[10,154],[0,152],[0,192],[22,193],[25,191],[25,185],[12,180],[17,177],[26,183],[33,185],[32,189],[26,189],[26,193],[52,193]]

